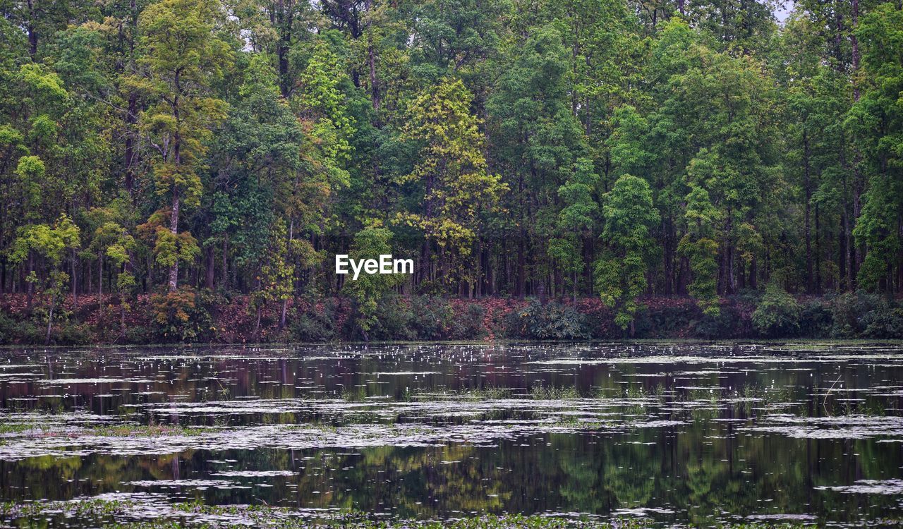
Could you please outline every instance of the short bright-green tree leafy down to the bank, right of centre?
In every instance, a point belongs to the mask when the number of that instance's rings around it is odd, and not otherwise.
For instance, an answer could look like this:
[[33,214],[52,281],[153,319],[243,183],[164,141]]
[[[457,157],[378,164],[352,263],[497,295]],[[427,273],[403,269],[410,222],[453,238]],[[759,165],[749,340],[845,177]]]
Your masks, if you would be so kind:
[[615,309],[615,322],[630,327],[641,308],[638,297],[646,291],[649,260],[655,244],[649,230],[658,222],[649,184],[625,174],[605,194],[602,206],[602,241],[606,251],[596,261],[596,289],[602,302]]

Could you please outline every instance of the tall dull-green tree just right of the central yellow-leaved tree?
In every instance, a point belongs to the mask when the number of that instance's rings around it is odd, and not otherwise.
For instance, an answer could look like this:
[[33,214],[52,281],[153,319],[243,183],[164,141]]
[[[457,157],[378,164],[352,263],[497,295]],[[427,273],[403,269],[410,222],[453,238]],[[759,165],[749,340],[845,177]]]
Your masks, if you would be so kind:
[[[517,247],[514,293],[526,295],[529,268],[544,283],[548,272],[532,257],[552,237],[559,203],[557,191],[574,162],[585,154],[580,122],[571,111],[567,84],[567,51],[554,24],[530,28],[511,43],[512,59],[498,77],[487,101],[487,135],[494,171],[505,175],[510,193],[503,200],[509,214],[502,228]],[[507,245],[506,254],[512,252]],[[538,290],[538,289],[536,289]]]

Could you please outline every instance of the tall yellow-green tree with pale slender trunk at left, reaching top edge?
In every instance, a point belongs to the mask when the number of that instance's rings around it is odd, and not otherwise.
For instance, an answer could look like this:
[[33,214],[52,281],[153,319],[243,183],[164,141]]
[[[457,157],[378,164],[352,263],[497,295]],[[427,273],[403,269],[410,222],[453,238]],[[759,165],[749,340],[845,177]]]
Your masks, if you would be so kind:
[[163,0],[148,6],[138,21],[142,70],[132,79],[154,103],[141,116],[141,127],[154,148],[154,186],[168,195],[168,229],[163,215],[149,221],[156,235],[157,262],[169,268],[168,292],[179,282],[182,257],[198,252],[193,237],[180,237],[182,205],[196,206],[202,185],[198,176],[210,127],[225,117],[226,104],[210,94],[222,76],[231,51],[213,22],[221,16],[217,0]]

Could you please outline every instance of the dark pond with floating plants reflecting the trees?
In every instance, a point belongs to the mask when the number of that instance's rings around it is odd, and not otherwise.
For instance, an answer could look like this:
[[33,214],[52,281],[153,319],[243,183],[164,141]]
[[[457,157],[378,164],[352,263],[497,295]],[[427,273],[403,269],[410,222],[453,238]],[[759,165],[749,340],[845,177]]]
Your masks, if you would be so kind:
[[[311,519],[903,519],[901,353],[875,344],[5,349],[0,491],[13,505],[4,517],[21,523],[41,504],[54,506],[41,515],[50,525],[216,518],[186,515],[198,502]],[[64,503],[89,497],[121,505],[98,514]]]

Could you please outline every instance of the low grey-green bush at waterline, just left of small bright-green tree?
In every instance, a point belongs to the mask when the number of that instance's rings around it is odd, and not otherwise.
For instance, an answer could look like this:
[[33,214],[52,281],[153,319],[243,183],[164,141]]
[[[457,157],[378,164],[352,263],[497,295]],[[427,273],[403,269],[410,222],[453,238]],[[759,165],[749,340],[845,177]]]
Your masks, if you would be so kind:
[[586,316],[573,305],[532,300],[526,307],[511,311],[506,322],[507,335],[526,339],[587,339],[590,329]]

